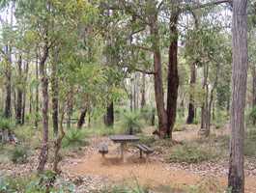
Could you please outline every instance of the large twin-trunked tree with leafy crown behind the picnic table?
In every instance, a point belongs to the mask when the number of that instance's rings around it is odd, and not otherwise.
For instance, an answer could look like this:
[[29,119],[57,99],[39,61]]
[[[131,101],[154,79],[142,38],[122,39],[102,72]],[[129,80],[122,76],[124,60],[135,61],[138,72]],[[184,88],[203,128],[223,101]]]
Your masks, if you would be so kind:
[[[131,35],[137,38],[142,32],[146,37],[142,41],[133,41],[135,49],[148,52],[153,57],[153,67],[145,68],[145,72],[154,75],[156,112],[158,116],[159,133],[161,137],[172,137],[172,128],[176,119],[177,97],[179,87],[178,76],[178,39],[180,15],[204,7],[225,3],[228,1],[213,1],[206,4],[187,1],[111,1],[102,2],[101,6],[110,10],[120,10],[130,17],[133,23]],[[168,26],[166,30],[166,26]],[[164,29],[165,30],[161,30]],[[163,34],[162,34],[163,33]],[[167,98],[164,98],[163,53],[168,41],[167,67]],[[143,68],[143,66],[142,66]],[[136,68],[140,69],[140,68]],[[165,102],[167,103],[165,107]]]

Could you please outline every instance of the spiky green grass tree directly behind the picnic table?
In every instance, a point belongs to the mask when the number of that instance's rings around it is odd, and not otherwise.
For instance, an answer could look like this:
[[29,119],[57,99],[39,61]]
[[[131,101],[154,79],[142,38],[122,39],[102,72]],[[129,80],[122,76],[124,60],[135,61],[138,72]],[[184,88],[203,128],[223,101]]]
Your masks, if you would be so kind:
[[139,112],[126,112],[123,115],[123,127],[126,133],[135,134],[141,132],[140,114]]

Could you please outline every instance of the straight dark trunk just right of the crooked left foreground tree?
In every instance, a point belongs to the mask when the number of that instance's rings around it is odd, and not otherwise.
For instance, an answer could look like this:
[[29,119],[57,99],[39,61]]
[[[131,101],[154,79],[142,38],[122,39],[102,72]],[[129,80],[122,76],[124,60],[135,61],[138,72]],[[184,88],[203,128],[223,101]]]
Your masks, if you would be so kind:
[[[55,48],[56,49],[56,48]],[[58,55],[57,51],[54,50],[52,71],[51,71],[51,103],[52,103],[52,125],[53,133],[55,136],[58,135],[59,127],[59,82],[58,82]]]

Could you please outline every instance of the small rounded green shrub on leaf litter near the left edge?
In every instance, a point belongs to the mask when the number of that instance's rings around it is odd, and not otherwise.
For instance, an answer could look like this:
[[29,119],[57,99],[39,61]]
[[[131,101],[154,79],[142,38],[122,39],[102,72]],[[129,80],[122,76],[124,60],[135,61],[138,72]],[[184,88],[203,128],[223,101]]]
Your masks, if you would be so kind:
[[11,153],[11,160],[14,163],[26,163],[28,158],[28,151],[25,147],[15,147]]

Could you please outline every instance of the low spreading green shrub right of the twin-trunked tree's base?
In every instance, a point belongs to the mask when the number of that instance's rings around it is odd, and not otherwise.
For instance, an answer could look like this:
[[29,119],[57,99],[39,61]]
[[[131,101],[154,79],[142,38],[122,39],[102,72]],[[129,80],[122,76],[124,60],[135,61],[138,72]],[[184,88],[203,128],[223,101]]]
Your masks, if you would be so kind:
[[172,150],[169,162],[200,163],[215,158],[216,154],[210,150],[195,145],[178,145]]

